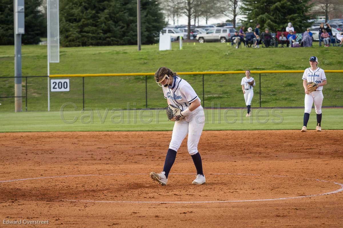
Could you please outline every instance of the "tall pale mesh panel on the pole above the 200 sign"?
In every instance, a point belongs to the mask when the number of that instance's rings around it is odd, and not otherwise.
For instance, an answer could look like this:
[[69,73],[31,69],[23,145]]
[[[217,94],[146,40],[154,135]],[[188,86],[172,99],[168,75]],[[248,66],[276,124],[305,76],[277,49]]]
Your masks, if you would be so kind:
[[48,48],[50,63],[60,62],[60,24],[58,12],[59,0],[47,0]]

